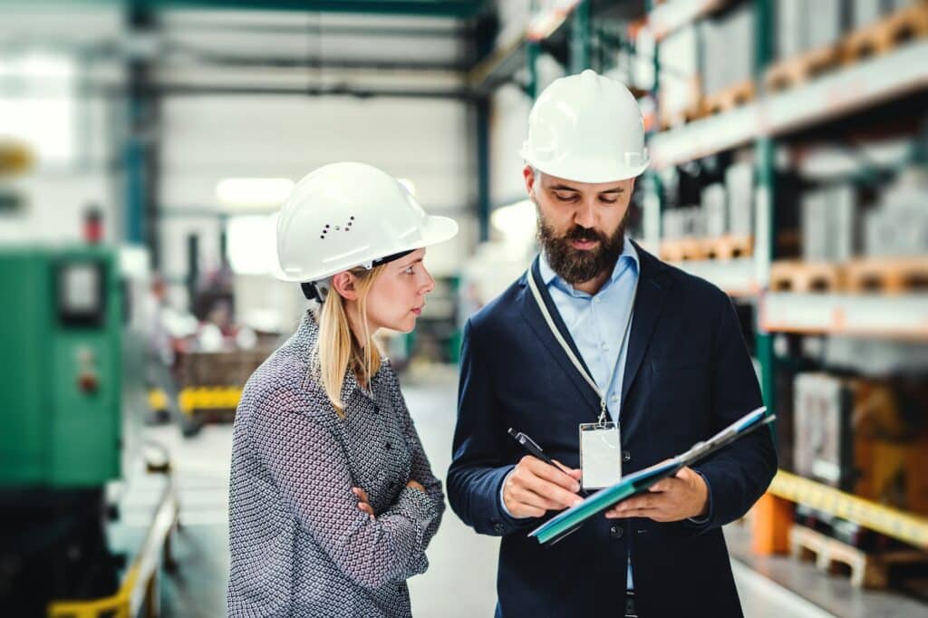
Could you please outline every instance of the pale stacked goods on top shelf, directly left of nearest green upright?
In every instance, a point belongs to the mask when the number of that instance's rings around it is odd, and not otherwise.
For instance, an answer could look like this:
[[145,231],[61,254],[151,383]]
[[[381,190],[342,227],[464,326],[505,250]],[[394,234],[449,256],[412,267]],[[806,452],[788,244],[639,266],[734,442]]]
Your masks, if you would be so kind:
[[[700,23],[702,112],[714,114],[754,98],[754,3],[731,6]],[[738,53],[732,53],[737,49]]]

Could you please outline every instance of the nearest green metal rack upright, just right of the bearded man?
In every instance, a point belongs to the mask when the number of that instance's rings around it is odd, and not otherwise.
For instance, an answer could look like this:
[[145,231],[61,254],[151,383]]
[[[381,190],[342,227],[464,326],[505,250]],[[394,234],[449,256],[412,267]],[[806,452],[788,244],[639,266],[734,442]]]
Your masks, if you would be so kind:
[[[773,59],[773,3],[771,0],[754,1],[754,81],[763,84],[764,71]],[[774,165],[776,145],[772,138],[761,137],[754,146],[754,166],[757,175],[757,191],[754,225],[754,268],[757,282],[767,290],[770,263],[776,239],[774,208],[776,204]],[[763,293],[763,292],[761,292]],[[773,337],[761,329],[759,315],[756,322],[756,354],[761,367],[761,389],[769,412],[776,411],[774,377],[776,358],[773,354]],[[776,437],[776,433],[774,433]]]

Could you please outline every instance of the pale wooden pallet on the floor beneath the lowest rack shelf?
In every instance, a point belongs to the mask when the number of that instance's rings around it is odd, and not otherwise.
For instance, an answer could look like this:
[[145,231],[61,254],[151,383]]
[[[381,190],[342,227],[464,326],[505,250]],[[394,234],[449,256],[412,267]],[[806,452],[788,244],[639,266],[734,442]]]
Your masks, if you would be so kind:
[[799,560],[813,558],[821,571],[835,573],[844,564],[851,571],[851,586],[885,588],[889,572],[896,564],[928,563],[928,553],[918,549],[900,549],[879,554],[846,545],[815,530],[794,524],[790,530],[790,548]]

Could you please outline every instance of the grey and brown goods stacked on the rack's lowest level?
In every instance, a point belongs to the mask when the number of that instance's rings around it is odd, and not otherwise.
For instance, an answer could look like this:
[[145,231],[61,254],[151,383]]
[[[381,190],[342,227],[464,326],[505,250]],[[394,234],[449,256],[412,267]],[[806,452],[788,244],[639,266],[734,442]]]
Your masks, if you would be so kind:
[[800,373],[793,393],[797,474],[928,515],[928,427],[911,410],[923,387]]

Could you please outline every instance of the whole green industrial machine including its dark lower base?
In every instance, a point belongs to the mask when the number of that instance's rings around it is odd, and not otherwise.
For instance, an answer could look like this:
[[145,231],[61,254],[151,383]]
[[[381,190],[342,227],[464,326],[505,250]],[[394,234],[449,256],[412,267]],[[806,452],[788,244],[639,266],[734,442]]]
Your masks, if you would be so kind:
[[51,599],[118,586],[107,485],[133,450],[126,376],[141,377],[141,348],[114,248],[0,247],[0,288],[0,607],[44,616]]

